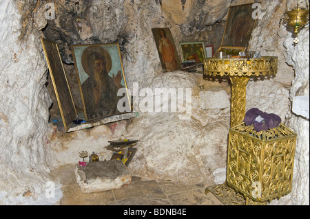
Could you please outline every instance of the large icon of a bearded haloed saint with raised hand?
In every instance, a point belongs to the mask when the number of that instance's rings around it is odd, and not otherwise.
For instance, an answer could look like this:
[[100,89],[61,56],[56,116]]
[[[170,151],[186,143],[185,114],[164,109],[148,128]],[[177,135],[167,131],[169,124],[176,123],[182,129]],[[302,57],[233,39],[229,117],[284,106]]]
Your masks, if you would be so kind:
[[[118,43],[72,45],[72,55],[87,121],[131,111]],[[123,88],[125,95],[118,96],[118,90]],[[120,111],[122,100],[125,110]]]

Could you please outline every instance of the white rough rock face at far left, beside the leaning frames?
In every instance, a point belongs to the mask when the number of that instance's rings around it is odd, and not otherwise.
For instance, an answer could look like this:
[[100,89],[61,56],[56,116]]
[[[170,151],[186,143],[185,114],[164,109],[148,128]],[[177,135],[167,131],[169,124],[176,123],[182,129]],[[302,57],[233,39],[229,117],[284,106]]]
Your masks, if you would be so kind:
[[40,39],[22,31],[23,16],[36,4],[20,11],[15,3],[0,3],[0,191],[39,194],[49,181],[45,137],[51,100]]

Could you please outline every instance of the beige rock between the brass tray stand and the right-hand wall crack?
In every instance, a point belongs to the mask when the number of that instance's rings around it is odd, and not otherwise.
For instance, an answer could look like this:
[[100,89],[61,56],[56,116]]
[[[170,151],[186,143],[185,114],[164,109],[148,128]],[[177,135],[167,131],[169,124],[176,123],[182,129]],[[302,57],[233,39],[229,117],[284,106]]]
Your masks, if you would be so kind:
[[280,20],[285,12],[286,1],[262,1],[262,17],[252,33],[249,49],[260,51],[262,56],[278,56],[278,73],[275,77],[251,78],[247,84],[246,110],[257,107],[267,113],[276,113],[285,122],[290,110],[289,85],[293,69],[285,63],[282,45],[287,36]]

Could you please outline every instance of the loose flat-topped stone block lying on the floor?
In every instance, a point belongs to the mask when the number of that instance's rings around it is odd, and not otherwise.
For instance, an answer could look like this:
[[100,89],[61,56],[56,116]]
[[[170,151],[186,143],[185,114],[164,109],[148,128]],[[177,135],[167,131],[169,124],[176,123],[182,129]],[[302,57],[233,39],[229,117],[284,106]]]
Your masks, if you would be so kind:
[[130,184],[132,174],[121,160],[98,161],[75,166],[76,181],[82,192],[101,192]]

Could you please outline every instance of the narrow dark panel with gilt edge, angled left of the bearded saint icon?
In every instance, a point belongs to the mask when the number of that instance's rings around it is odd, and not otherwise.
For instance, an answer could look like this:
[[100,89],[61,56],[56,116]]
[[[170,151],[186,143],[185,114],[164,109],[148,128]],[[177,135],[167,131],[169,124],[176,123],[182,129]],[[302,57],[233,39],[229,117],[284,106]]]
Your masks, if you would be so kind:
[[72,126],[72,121],[78,118],[76,108],[70,91],[61,55],[59,54],[58,45],[45,38],[41,38],[46,61],[48,62],[48,69],[50,70],[50,77],[56,94],[56,100],[59,105],[59,111],[63,120],[65,131],[68,131]]

